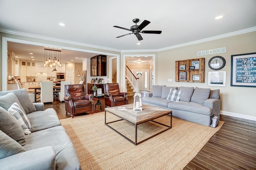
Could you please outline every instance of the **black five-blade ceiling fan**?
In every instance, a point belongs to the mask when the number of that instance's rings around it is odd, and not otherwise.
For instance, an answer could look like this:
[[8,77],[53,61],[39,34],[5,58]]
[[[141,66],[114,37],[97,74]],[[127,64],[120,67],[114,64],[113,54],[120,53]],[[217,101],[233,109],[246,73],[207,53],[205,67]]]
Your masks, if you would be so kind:
[[120,26],[114,26],[116,28],[121,28],[121,29],[124,29],[124,30],[128,30],[128,31],[132,31],[132,33],[129,33],[129,34],[124,34],[122,36],[118,36],[116,38],[120,38],[120,37],[123,37],[123,36],[127,36],[127,35],[130,35],[130,34],[134,34],[138,40],[143,40],[142,36],[140,35],[140,33],[142,34],[161,34],[162,31],[142,31],[143,28],[145,28],[150,22],[147,21],[147,20],[144,20],[139,26],[137,25],[137,23],[139,22],[140,20],[138,18],[136,19],[133,19],[132,22],[134,22],[136,25],[134,26],[131,26],[130,29],[128,28],[123,28],[123,27],[120,27]]

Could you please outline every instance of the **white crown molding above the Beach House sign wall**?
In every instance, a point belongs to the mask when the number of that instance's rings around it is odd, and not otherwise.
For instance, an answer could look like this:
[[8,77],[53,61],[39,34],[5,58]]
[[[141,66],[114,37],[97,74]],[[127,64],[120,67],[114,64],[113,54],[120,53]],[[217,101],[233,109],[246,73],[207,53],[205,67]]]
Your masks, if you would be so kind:
[[210,37],[210,38],[204,38],[204,39],[196,40],[196,41],[193,41],[193,42],[182,43],[182,44],[173,45],[173,46],[170,46],[170,47],[160,48],[160,49],[158,49],[158,51],[164,51],[164,50],[168,50],[168,49],[184,47],[184,46],[193,45],[193,44],[197,44],[197,43],[209,42],[209,41],[212,41],[212,40],[218,40],[218,39],[221,39],[221,38],[237,36],[239,34],[245,34],[245,33],[253,32],[253,31],[256,31],[256,27],[246,28],[244,30],[230,32],[230,33],[227,33],[227,34],[222,34],[222,35],[214,36],[214,37]]

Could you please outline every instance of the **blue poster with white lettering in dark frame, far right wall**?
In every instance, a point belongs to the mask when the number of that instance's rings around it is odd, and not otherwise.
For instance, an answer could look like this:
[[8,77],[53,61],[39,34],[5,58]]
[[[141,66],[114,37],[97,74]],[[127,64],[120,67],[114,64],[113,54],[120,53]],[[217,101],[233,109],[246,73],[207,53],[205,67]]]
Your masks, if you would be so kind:
[[230,85],[256,87],[256,53],[231,55]]

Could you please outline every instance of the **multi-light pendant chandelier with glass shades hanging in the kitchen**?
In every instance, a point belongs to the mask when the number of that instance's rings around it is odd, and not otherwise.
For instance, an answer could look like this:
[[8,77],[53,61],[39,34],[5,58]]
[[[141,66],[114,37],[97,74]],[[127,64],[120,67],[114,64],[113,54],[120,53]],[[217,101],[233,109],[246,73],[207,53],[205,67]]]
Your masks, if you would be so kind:
[[[58,58],[58,60],[57,60]],[[62,63],[60,62],[60,50],[55,49],[44,49],[44,67],[53,67],[52,71],[57,71],[56,66],[62,67]]]

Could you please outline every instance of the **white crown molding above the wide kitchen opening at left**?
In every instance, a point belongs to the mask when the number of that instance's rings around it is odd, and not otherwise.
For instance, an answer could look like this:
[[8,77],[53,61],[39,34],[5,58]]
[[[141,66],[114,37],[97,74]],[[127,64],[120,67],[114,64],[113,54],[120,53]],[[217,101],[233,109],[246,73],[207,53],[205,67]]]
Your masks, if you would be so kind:
[[72,45],[80,45],[80,46],[84,46],[84,47],[91,47],[91,48],[121,52],[120,49],[108,48],[108,47],[103,47],[103,46],[98,46],[98,45],[91,45],[91,44],[88,44],[88,43],[73,42],[73,41],[62,40],[62,39],[58,39],[58,38],[51,38],[51,37],[47,37],[47,36],[39,36],[39,35],[36,35],[36,34],[29,34],[29,33],[25,33],[25,32],[7,30],[7,29],[4,29],[4,28],[0,29],[0,32],[4,32],[4,33],[8,33],[8,34],[14,34],[14,35],[17,35],[17,36],[38,38],[38,39],[41,39],[41,40],[48,40],[48,41],[54,41],[54,42],[60,42],[60,43],[68,43],[68,44],[72,44]]

